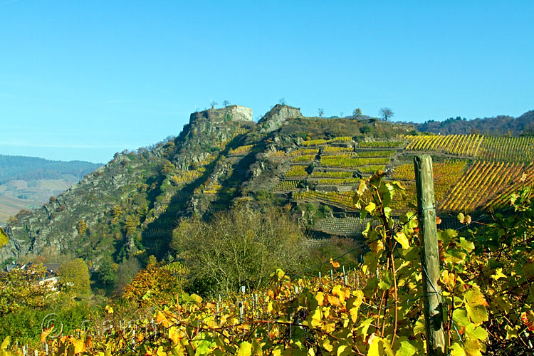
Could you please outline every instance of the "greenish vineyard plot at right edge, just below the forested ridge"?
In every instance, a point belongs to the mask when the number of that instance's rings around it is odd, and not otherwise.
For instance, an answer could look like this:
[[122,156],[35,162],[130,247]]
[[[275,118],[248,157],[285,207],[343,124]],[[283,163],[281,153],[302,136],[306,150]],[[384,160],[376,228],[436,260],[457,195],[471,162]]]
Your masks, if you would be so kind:
[[534,137],[485,137],[480,159],[505,162],[533,162]]

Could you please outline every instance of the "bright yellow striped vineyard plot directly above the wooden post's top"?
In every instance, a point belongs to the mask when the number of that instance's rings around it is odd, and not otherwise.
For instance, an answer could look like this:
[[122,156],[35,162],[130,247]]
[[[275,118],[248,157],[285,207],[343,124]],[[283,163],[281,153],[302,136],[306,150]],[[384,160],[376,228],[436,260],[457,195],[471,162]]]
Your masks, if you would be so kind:
[[436,151],[450,155],[476,156],[483,141],[483,135],[429,135],[408,136],[406,150]]

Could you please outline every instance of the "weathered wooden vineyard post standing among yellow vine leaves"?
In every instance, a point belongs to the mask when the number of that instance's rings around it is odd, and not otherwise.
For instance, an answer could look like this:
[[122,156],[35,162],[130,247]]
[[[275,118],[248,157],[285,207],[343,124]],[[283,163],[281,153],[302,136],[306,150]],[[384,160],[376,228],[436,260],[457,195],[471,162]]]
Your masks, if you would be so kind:
[[445,355],[443,305],[439,281],[438,231],[432,158],[429,155],[414,157],[417,209],[419,210],[419,238],[421,239],[421,267],[423,275],[424,323],[426,352],[428,355]]

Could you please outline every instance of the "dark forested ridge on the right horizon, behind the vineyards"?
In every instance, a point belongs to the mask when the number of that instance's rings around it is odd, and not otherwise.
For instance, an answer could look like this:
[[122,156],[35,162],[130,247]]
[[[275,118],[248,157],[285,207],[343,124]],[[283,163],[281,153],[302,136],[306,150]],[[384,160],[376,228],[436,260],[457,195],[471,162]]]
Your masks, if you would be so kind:
[[496,117],[466,120],[462,117],[450,117],[444,121],[429,120],[422,124],[413,123],[421,132],[434,132],[441,135],[463,135],[478,133],[483,135],[533,135],[534,110],[525,112],[520,117],[499,115]]

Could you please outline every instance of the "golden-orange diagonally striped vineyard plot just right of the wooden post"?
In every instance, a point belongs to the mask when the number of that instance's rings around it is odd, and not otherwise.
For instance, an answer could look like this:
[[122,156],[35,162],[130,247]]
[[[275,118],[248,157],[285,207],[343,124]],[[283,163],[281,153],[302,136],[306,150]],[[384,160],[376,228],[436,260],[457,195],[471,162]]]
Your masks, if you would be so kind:
[[474,211],[508,187],[524,170],[523,164],[477,161],[452,189],[441,210]]

